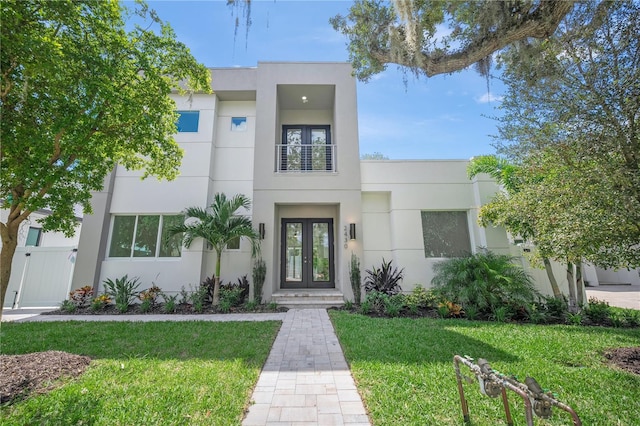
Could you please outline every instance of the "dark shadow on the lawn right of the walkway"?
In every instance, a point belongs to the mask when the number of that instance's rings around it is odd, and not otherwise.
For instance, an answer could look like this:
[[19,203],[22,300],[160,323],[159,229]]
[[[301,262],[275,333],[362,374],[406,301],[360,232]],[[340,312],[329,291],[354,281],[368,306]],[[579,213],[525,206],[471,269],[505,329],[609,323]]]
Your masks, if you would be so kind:
[[[340,341],[344,342],[345,356],[351,361],[450,364],[454,355],[485,358],[491,362],[519,360],[507,348],[451,330],[451,323],[444,320],[369,318],[343,313],[332,314],[331,319]],[[477,327],[473,323],[468,325]]]

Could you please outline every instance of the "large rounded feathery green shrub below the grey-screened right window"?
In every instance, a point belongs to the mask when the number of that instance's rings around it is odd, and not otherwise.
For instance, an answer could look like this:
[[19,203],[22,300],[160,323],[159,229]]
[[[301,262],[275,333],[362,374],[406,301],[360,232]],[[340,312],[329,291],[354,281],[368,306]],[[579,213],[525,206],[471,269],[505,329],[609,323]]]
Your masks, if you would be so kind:
[[473,306],[485,316],[525,312],[540,299],[531,278],[513,258],[481,251],[470,256],[447,259],[434,265],[433,292],[444,301]]

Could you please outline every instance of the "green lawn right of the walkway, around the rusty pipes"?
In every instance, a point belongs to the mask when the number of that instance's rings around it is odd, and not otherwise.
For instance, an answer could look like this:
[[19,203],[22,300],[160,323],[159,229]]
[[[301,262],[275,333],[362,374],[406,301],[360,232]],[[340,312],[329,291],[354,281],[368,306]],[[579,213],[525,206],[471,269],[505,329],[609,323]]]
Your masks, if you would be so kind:
[[[584,425],[640,425],[640,377],[606,364],[608,348],[640,346],[640,330],[536,326],[408,318],[370,318],[330,311],[374,425],[461,425],[453,356],[485,358],[521,381],[532,376],[571,406]],[[463,374],[472,375],[462,365]],[[464,383],[474,426],[506,424],[500,398]],[[516,425],[522,400],[509,392]],[[570,425],[554,409],[536,425]]]

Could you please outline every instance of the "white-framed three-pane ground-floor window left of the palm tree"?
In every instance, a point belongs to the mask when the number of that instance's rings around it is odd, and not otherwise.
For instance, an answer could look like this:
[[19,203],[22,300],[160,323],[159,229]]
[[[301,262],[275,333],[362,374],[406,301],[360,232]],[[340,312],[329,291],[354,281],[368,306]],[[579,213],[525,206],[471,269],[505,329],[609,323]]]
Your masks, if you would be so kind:
[[182,236],[169,234],[182,215],[118,215],[113,217],[109,257],[180,257]]

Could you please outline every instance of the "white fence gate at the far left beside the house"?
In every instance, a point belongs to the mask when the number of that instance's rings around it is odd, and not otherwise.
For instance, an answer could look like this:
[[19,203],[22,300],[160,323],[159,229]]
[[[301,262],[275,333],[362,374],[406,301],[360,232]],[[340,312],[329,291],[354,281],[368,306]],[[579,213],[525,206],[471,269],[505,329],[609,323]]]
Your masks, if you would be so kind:
[[76,247],[18,247],[5,308],[59,306],[71,288]]

